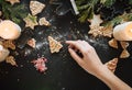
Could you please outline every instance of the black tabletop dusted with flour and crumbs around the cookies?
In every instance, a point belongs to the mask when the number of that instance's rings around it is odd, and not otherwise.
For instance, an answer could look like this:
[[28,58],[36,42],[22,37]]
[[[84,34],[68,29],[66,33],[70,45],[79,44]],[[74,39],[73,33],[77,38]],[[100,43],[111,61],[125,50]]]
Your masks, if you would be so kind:
[[[102,63],[118,57],[122,50],[109,47],[110,38],[92,38],[87,34],[88,24],[80,24],[70,11],[63,15],[55,13],[56,5],[48,4],[47,0],[38,0],[46,4],[46,8],[40,13],[38,19],[45,16],[51,23],[51,27],[35,26],[32,37],[36,40],[36,48],[28,45],[23,48],[12,52],[15,55],[19,67],[12,67],[6,63],[0,64],[0,88],[2,90],[109,90],[108,87],[96,77],[82,70],[69,56],[67,52],[66,40],[86,40],[97,50]],[[64,1],[64,0],[63,0]],[[29,4],[30,0],[23,0],[22,3]],[[59,12],[59,11],[58,11]],[[23,27],[24,23],[21,24]],[[23,33],[26,29],[23,29]],[[26,34],[22,34],[22,36]],[[63,49],[57,54],[51,54],[47,36],[61,41]],[[20,41],[24,41],[24,37]],[[132,55],[132,45],[129,52]],[[37,57],[44,56],[48,59],[47,71],[40,74],[35,70],[31,61]],[[132,87],[132,56],[128,59],[120,59],[116,75]]]

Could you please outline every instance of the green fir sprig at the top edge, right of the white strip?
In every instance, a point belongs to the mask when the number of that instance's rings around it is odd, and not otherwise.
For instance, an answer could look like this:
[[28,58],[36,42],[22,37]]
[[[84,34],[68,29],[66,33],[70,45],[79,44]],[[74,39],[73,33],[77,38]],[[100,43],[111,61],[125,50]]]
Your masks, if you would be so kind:
[[[75,0],[77,4],[77,9],[79,11],[79,22],[85,22],[87,19],[92,19],[95,9],[97,9],[97,4],[101,4],[101,7],[110,8],[112,7],[117,0]],[[132,0],[128,0],[128,4],[132,5]],[[97,10],[101,9],[99,7]],[[120,20],[120,19],[118,19]]]

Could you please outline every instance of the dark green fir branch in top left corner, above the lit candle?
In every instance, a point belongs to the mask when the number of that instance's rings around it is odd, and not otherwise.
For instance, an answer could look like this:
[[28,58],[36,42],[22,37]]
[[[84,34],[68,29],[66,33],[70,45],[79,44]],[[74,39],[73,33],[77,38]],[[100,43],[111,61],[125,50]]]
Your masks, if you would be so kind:
[[20,23],[21,19],[28,15],[24,4],[11,5],[6,0],[0,0],[0,5],[2,7],[3,19],[10,19],[15,23]]

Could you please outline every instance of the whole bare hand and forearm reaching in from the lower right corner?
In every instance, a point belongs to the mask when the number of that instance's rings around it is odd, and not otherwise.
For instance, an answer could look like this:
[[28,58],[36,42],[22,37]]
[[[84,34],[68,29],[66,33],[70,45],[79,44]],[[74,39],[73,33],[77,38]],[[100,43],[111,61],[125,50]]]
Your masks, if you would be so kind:
[[[111,90],[132,90],[127,83],[116,77],[99,59],[95,48],[85,41],[67,41],[72,57],[87,72],[102,80]],[[80,52],[80,57],[77,52]]]

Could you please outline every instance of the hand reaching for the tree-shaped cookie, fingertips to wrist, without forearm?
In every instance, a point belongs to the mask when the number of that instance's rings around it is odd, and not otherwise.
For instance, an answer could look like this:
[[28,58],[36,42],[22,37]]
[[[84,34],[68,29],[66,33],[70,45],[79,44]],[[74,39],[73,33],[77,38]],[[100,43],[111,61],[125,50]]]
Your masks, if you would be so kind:
[[[98,75],[101,68],[105,68],[100,61],[95,48],[86,41],[67,41],[68,52],[77,64],[91,75]],[[82,57],[77,54],[77,50],[81,53]]]

